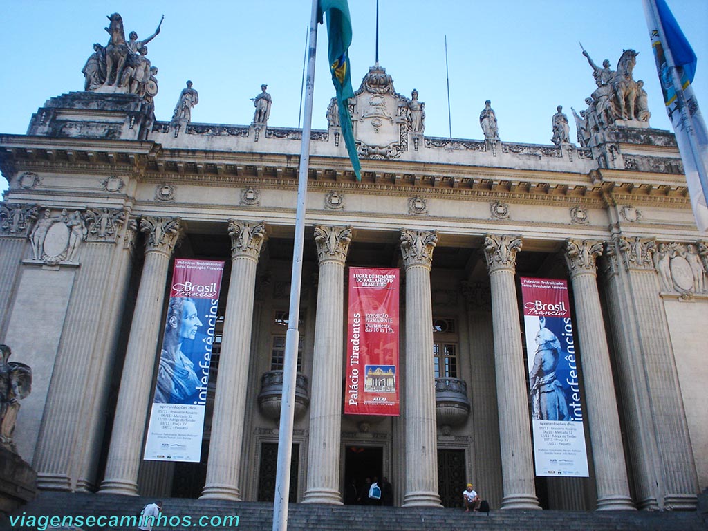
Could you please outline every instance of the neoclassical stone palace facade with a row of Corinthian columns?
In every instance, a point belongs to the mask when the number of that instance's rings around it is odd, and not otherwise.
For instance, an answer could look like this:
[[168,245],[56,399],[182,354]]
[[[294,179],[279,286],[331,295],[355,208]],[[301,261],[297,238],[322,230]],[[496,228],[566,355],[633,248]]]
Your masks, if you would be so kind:
[[[302,132],[155,122],[133,92],[0,135],[0,343],[34,371],[18,452],[40,489],[272,499]],[[557,115],[557,144],[507,142],[487,105],[485,139],[427,137],[417,97],[366,74],[361,181],[336,112],[312,132],[292,500],[386,476],[403,506],[472,481],[496,508],[695,508],[708,240],[673,134],[591,105],[579,145]],[[142,459],[175,258],[226,263],[199,463]],[[400,416],[343,413],[350,266],[401,272]],[[535,476],[522,276],[569,285],[588,478]]]

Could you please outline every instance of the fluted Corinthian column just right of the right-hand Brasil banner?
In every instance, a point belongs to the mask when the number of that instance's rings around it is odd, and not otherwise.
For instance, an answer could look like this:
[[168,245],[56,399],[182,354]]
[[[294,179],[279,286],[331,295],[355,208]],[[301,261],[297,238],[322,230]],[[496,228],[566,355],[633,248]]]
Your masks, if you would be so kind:
[[595,266],[595,258],[602,252],[601,241],[566,240],[565,258],[575,293],[590,443],[595,457],[598,510],[627,510],[633,509],[634,504],[629,496],[627,464]]

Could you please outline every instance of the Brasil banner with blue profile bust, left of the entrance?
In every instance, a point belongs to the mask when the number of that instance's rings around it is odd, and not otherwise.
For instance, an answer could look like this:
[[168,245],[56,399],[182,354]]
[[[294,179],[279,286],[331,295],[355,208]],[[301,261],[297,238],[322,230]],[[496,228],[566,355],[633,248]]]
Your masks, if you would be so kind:
[[224,262],[175,260],[144,459],[200,460],[223,273]]

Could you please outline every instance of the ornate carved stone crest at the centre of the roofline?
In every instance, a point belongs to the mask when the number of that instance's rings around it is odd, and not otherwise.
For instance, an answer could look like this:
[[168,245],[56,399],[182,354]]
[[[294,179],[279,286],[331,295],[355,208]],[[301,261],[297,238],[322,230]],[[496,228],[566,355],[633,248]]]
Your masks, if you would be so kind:
[[363,159],[396,159],[408,150],[408,98],[394,89],[386,69],[375,64],[349,99],[349,108]]

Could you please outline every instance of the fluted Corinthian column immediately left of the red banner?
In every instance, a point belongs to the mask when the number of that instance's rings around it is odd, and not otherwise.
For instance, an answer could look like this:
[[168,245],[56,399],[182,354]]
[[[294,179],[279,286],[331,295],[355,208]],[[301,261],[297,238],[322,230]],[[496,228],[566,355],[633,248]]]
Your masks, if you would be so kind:
[[303,503],[341,504],[341,432],[344,263],[350,227],[314,227],[319,259],[317,316],[312,359],[307,491]]

